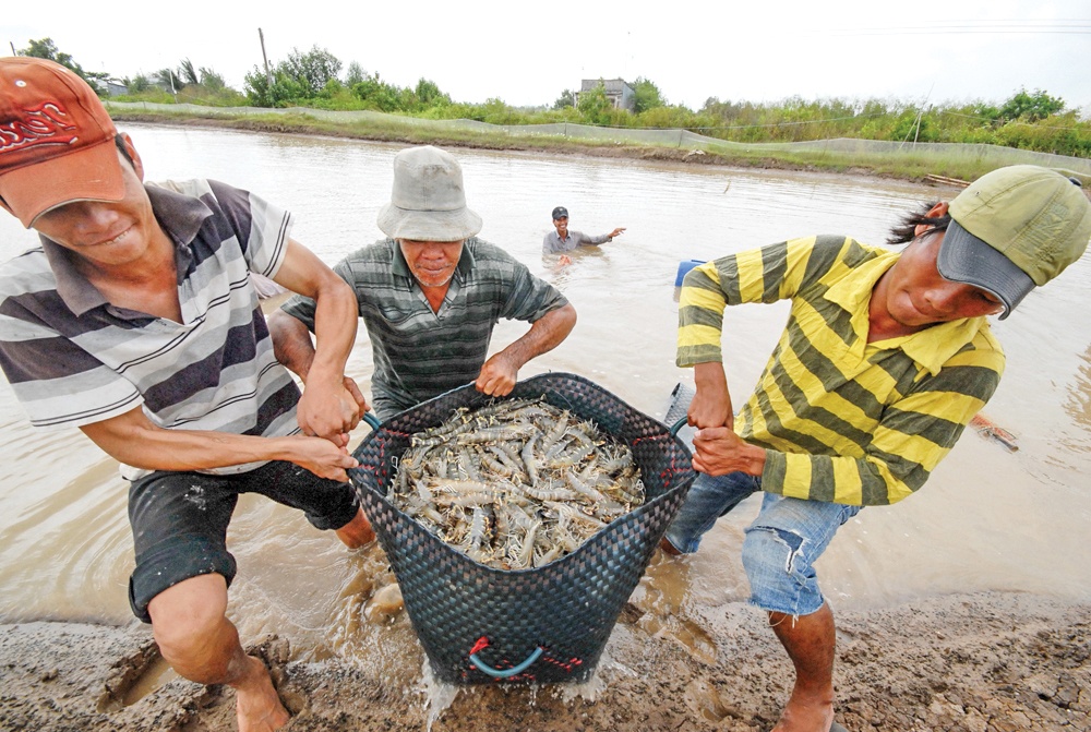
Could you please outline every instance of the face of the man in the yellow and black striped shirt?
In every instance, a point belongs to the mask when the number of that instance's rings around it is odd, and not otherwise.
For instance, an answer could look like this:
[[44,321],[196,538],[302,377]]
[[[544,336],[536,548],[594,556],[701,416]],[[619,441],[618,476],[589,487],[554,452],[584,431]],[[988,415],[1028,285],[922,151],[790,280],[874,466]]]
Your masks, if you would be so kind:
[[876,287],[887,313],[908,327],[926,327],[963,317],[1004,311],[999,299],[980,287],[945,279],[936,267],[944,232],[926,233],[910,242]]

